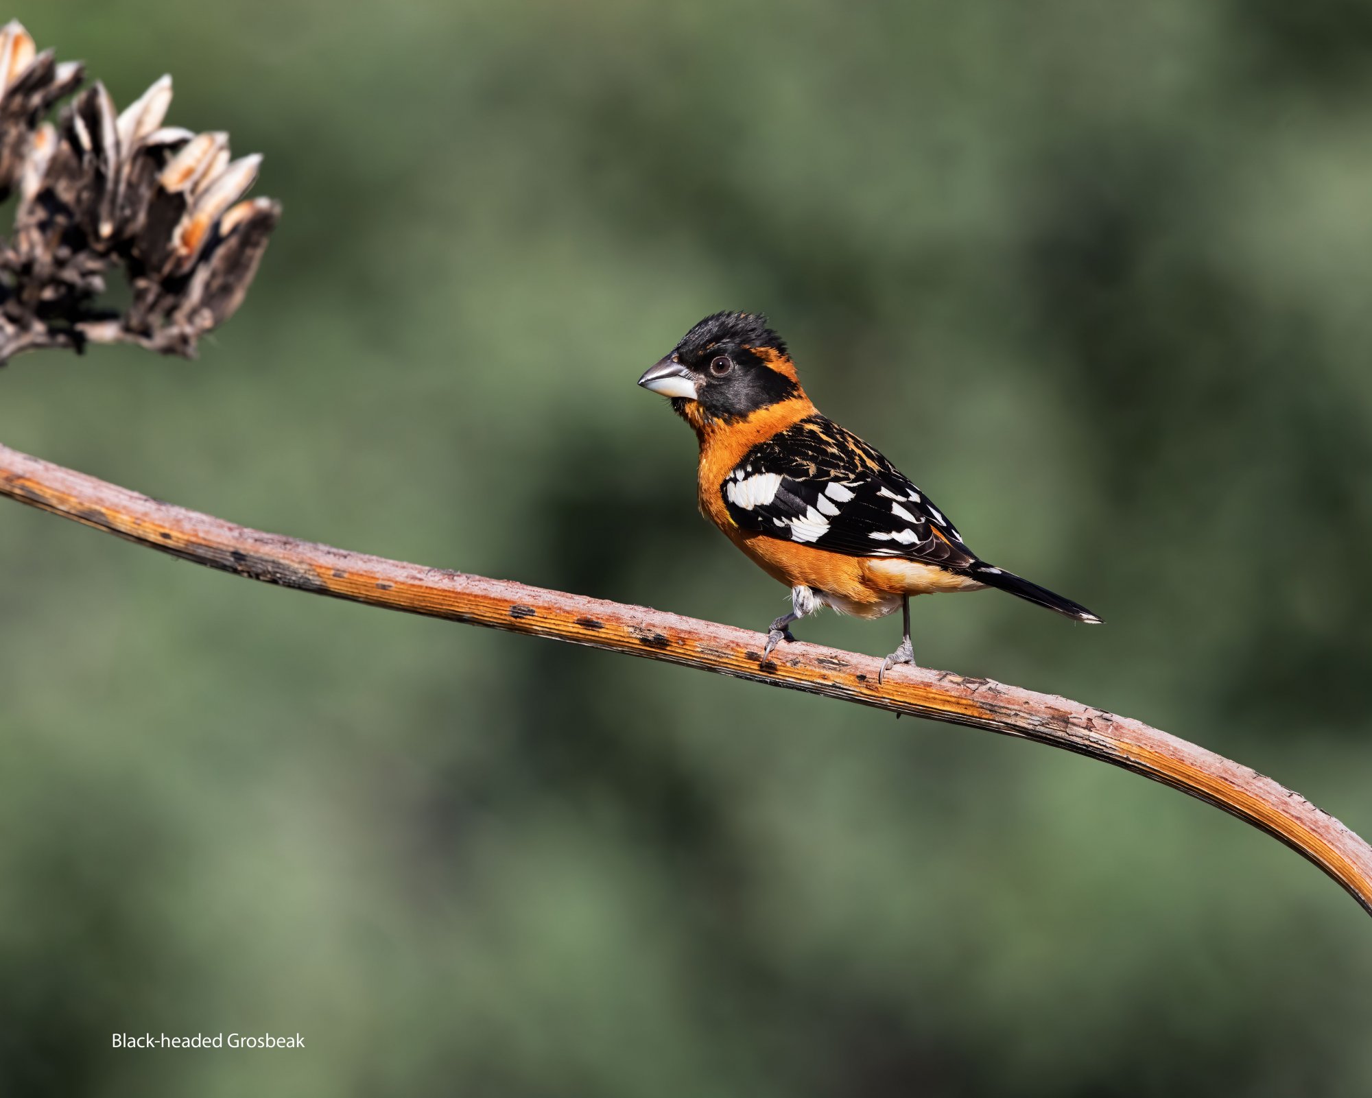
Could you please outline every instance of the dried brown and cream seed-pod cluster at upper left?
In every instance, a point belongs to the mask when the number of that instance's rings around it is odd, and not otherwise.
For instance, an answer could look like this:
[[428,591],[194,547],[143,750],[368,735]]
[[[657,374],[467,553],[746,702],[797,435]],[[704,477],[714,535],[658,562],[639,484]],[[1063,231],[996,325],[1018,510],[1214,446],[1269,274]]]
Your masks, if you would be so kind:
[[[0,244],[0,364],[86,342],[193,357],[243,302],[280,217],[270,199],[240,200],[262,158],[163,126],[170,77],[119,114],[95,84],[44,121],[81,81],[19,23],[0,29],[0,198],[19,194]],[[122,313],[99,306],[111,266],[132,291]]]

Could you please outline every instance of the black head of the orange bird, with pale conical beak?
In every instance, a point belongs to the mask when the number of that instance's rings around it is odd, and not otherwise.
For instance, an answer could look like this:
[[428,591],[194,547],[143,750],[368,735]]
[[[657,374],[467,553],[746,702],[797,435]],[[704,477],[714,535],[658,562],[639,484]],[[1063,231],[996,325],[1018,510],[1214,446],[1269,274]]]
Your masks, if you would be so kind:
[[786,343],[760,313],[705,317],[638,383],[671,397],[672,408],[694,425],[741,420],[801,395]]

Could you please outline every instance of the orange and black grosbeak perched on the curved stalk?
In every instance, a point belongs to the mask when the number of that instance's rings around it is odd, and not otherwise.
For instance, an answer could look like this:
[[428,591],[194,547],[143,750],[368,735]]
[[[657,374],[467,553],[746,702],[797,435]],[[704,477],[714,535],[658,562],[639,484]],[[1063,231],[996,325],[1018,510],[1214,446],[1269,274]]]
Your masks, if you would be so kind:
[[790,612],[768,627],[763,660],[794,640],[792,622],[822,607],[858,618],[899,607],[901,641],[882,662],[881,684],[893,667],[915,664],[910,600],[943,592],[995,587],[1102,623],[1081,604],[978,557],[879,450],[820,414],[764,314],[705,317],[638,384],[667,397],[696,431],[701,513],[790,587]]

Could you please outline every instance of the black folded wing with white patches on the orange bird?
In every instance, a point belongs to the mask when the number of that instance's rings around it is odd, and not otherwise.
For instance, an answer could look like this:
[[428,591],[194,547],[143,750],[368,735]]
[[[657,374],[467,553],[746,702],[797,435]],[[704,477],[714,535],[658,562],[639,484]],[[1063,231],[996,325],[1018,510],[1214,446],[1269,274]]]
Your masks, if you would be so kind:
[[742,530],[853,557],[962,571],[977,557],[910,478],[851,431],[809,416],[749,450],[719,486]]

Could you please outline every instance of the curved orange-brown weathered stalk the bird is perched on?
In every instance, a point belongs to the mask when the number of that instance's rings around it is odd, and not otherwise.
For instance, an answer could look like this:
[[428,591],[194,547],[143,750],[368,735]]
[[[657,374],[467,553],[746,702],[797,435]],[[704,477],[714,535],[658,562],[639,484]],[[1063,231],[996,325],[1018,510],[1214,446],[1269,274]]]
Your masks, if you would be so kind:
[[789,642],[775,659],[763,660],[764,638],[757,633],[263,534],[5,446],[0,446],[0,495],[263,583],[665,660],[1087,755],[1209,802],[1280,839],[1372,914],[1372,847],[1338,819],[1229,759],[1076,701],[948,671],[896,668],[878,686],[879,660],[814,644]]

